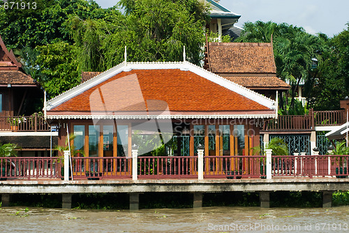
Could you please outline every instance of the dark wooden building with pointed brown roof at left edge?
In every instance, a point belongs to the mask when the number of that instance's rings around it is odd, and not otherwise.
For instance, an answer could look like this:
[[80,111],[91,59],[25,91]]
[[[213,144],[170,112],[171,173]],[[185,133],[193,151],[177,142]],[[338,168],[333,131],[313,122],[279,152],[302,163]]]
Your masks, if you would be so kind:
[[43,116],[35,113],[43,97],[0,36],[0,142],[20,146],[20,156],[49,156],[50,145],[57,144],[57,133],[50,133]]

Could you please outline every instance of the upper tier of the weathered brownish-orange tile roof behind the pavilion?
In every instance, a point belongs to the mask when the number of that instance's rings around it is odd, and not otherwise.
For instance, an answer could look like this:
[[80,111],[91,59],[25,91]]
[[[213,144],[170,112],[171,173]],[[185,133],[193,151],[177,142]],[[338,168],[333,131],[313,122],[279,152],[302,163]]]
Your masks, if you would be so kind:
[[213,73],[276,73],[271,43],[209,43]]

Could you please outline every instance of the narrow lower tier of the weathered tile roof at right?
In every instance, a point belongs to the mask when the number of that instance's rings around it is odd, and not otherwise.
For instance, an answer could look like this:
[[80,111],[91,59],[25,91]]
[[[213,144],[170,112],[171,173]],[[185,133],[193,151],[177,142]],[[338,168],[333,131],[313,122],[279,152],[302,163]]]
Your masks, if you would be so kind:
[[250,89],[290,89],[290,85],[276,76],[234,76],[224,78]]

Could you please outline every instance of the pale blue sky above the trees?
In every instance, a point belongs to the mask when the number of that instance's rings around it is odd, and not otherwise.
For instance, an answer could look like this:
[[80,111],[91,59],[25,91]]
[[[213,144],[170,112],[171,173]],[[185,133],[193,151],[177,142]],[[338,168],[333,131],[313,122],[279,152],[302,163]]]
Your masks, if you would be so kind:
[[[114,6],[117,0],[95,0],[102,8]],[[286,22],[303,27],[308,33],[325,33],[334,36],[349,22],[348,0],[221,0],[225,8],[241,15],[235,24],[244,22]]]

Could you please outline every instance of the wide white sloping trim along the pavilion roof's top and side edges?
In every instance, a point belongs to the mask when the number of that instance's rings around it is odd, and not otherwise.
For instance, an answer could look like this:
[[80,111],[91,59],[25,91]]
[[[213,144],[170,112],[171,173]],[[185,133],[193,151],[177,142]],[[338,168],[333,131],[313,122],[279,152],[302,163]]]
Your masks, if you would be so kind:
[[50,111],[54,107],[57,107],[62,103],[66,102],[67,100],[70,100],[70,98],[78,96],[84,91],[87,91],[88,89],[95,87],[96,85],[101,84],[102,82],[105,82],[110,77],[114,77],[115,75],[123,72],[124,70],[130,70],[130,69],[132,70],[147,70],[147,69],[149,70],[153,70],[153,69],[186,70],[188,69],[189,71],[195,73],[196,75],[204,77],[205,79],[211,82],[214,82],[216,84],[221,85],[222,87],[230,89],[231,91],[239,93],[240,95],[245,96],[248,99],[254,100],[260,105],[264,105],[269,109],[276,110],[276,105],[274,100],[267,98],[265,96],[262,96],[260,93],[256,93],[255,91],[247,89],[246,87],[242,87],[241,85],[236,84],[235,82],[226,80],[225,78],[219,75],[216,75],[214,73],[211,73],[208,70],[200,68],[199,66],[195,66],[194,64],[188,61],[182,61],[182,62],[128,62],[127,64],[125,62],[120,63],[119,65],[114,66],[109,70],[106,70],[100,75],[97,75],[96,77],[91,78],[91,80],[87,80],[86,82],[83,82],[77,87],[73,87],[72,89],[64,93],[61,93],[59,96],[56,96],[52,100],[49,100],[47,102],[47,111]]

